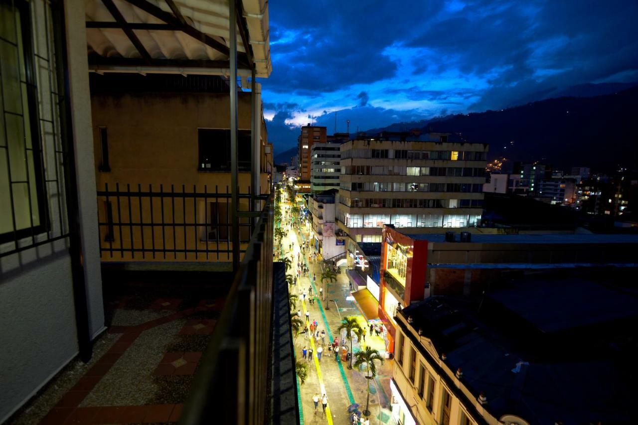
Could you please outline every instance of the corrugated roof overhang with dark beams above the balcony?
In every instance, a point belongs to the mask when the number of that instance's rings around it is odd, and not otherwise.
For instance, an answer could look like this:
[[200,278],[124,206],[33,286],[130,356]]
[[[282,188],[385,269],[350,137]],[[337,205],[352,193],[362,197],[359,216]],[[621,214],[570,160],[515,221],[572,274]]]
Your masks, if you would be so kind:
[[89,70],[228,75],[230,28],[242,76],[268,77],[267,0],[85,0]]

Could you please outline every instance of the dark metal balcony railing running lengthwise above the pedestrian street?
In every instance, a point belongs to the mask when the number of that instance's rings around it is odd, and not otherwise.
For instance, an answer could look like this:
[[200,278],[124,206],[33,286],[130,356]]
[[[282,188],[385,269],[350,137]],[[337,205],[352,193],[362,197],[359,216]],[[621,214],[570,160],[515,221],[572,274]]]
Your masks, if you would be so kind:
[[[299,423],[288,291],[267,200],[180,424]],[[273,273],[274,271],[274,273]]]

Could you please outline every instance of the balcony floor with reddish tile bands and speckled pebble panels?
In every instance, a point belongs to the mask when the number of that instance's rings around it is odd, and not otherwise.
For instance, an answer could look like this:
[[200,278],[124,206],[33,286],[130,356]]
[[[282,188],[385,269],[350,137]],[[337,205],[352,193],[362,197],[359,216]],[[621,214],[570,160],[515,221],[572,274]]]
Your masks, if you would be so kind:
[[165,424],[179,419],[230,281],[203,285],[188,274],[181,281],[151,276],[105,279],[110,327],[96,341],[93,359],[71,362],[13,423]]

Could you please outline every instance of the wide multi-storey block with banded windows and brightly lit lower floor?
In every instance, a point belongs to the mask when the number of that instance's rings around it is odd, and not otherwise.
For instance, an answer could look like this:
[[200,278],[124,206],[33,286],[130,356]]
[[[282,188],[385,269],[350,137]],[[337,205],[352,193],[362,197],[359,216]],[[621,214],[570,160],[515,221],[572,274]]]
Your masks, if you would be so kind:
[[395,227],[459,228],[482,213],[488,145],[449,133],[382,133],[341,145],[338,222],[354,241]]

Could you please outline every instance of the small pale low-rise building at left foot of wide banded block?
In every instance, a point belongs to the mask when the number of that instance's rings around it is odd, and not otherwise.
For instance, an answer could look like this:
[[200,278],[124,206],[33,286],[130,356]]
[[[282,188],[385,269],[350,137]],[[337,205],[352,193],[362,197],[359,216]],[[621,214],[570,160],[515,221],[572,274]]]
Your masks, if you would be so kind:
[[313,239],[315,249],[322,255],[323,260],[331,260],[346,251],[345,235],[334,222],[335,198],[337,190],[327,190],[315,193],[310,198],[312,214]]

